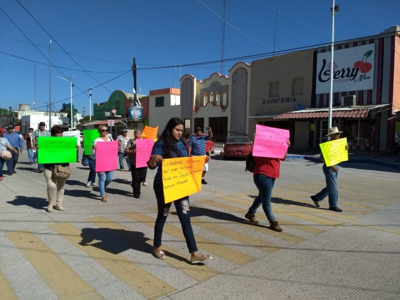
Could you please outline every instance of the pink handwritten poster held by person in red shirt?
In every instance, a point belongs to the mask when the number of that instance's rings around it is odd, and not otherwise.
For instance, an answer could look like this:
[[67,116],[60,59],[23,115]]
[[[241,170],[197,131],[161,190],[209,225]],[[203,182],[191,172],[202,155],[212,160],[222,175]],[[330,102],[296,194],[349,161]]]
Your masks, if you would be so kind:
[[253,156],[283,158],[286,154],[289,130],[255,125]]

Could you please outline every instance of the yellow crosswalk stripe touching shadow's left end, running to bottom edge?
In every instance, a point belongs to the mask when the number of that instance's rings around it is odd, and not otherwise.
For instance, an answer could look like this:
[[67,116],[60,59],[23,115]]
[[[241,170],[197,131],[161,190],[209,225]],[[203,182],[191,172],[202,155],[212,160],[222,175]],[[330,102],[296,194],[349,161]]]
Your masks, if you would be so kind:
[[[80,245],[82,231],[71,224],[55,223],[49,225],[49,227],[147,299],[158,299],[176,291],[175,288],[145,271],[123,255],[115,254],[112,250],[107,251],[106,246],[99,249],[93,246]],[[92,240],[91,237],[90,240]],[[93,243],[97,242],[99,241],[93,239]]]

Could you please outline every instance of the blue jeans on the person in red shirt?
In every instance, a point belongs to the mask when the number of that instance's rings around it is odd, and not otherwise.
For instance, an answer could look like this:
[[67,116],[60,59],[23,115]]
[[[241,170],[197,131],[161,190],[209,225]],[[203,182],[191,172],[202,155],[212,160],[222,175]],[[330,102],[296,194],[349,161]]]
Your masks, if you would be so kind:
[[272,213],[271,208],[271,195],[273,184],[275,183],[275,178],[268,177],[264,174],[256,174],[253,176],[255,186],[258,188],[258,196],[255,197],[253,203],[251,204],[248,211],[250,213],[255,213],[259,205],[262,204],[262,209],[269,222],[273,222],[275,217]]

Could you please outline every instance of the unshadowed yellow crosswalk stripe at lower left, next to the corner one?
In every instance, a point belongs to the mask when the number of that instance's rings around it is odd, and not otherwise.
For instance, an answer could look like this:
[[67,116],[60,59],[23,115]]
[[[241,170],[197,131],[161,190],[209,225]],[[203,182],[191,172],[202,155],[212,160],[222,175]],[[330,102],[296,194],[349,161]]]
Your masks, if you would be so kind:
[[5,234],[25,255],[58,298],[102,299],[101,295],[33,233],[23,229]]

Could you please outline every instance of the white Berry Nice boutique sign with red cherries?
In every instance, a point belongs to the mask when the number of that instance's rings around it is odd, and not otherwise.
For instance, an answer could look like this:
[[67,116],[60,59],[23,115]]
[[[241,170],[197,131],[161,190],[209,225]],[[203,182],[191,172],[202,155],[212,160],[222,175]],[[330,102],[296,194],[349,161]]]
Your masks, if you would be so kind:
[[[315,93],[330,91],[330,52],[318,53]],[[333,52],[333,92],[373,88],[375,44]]]

